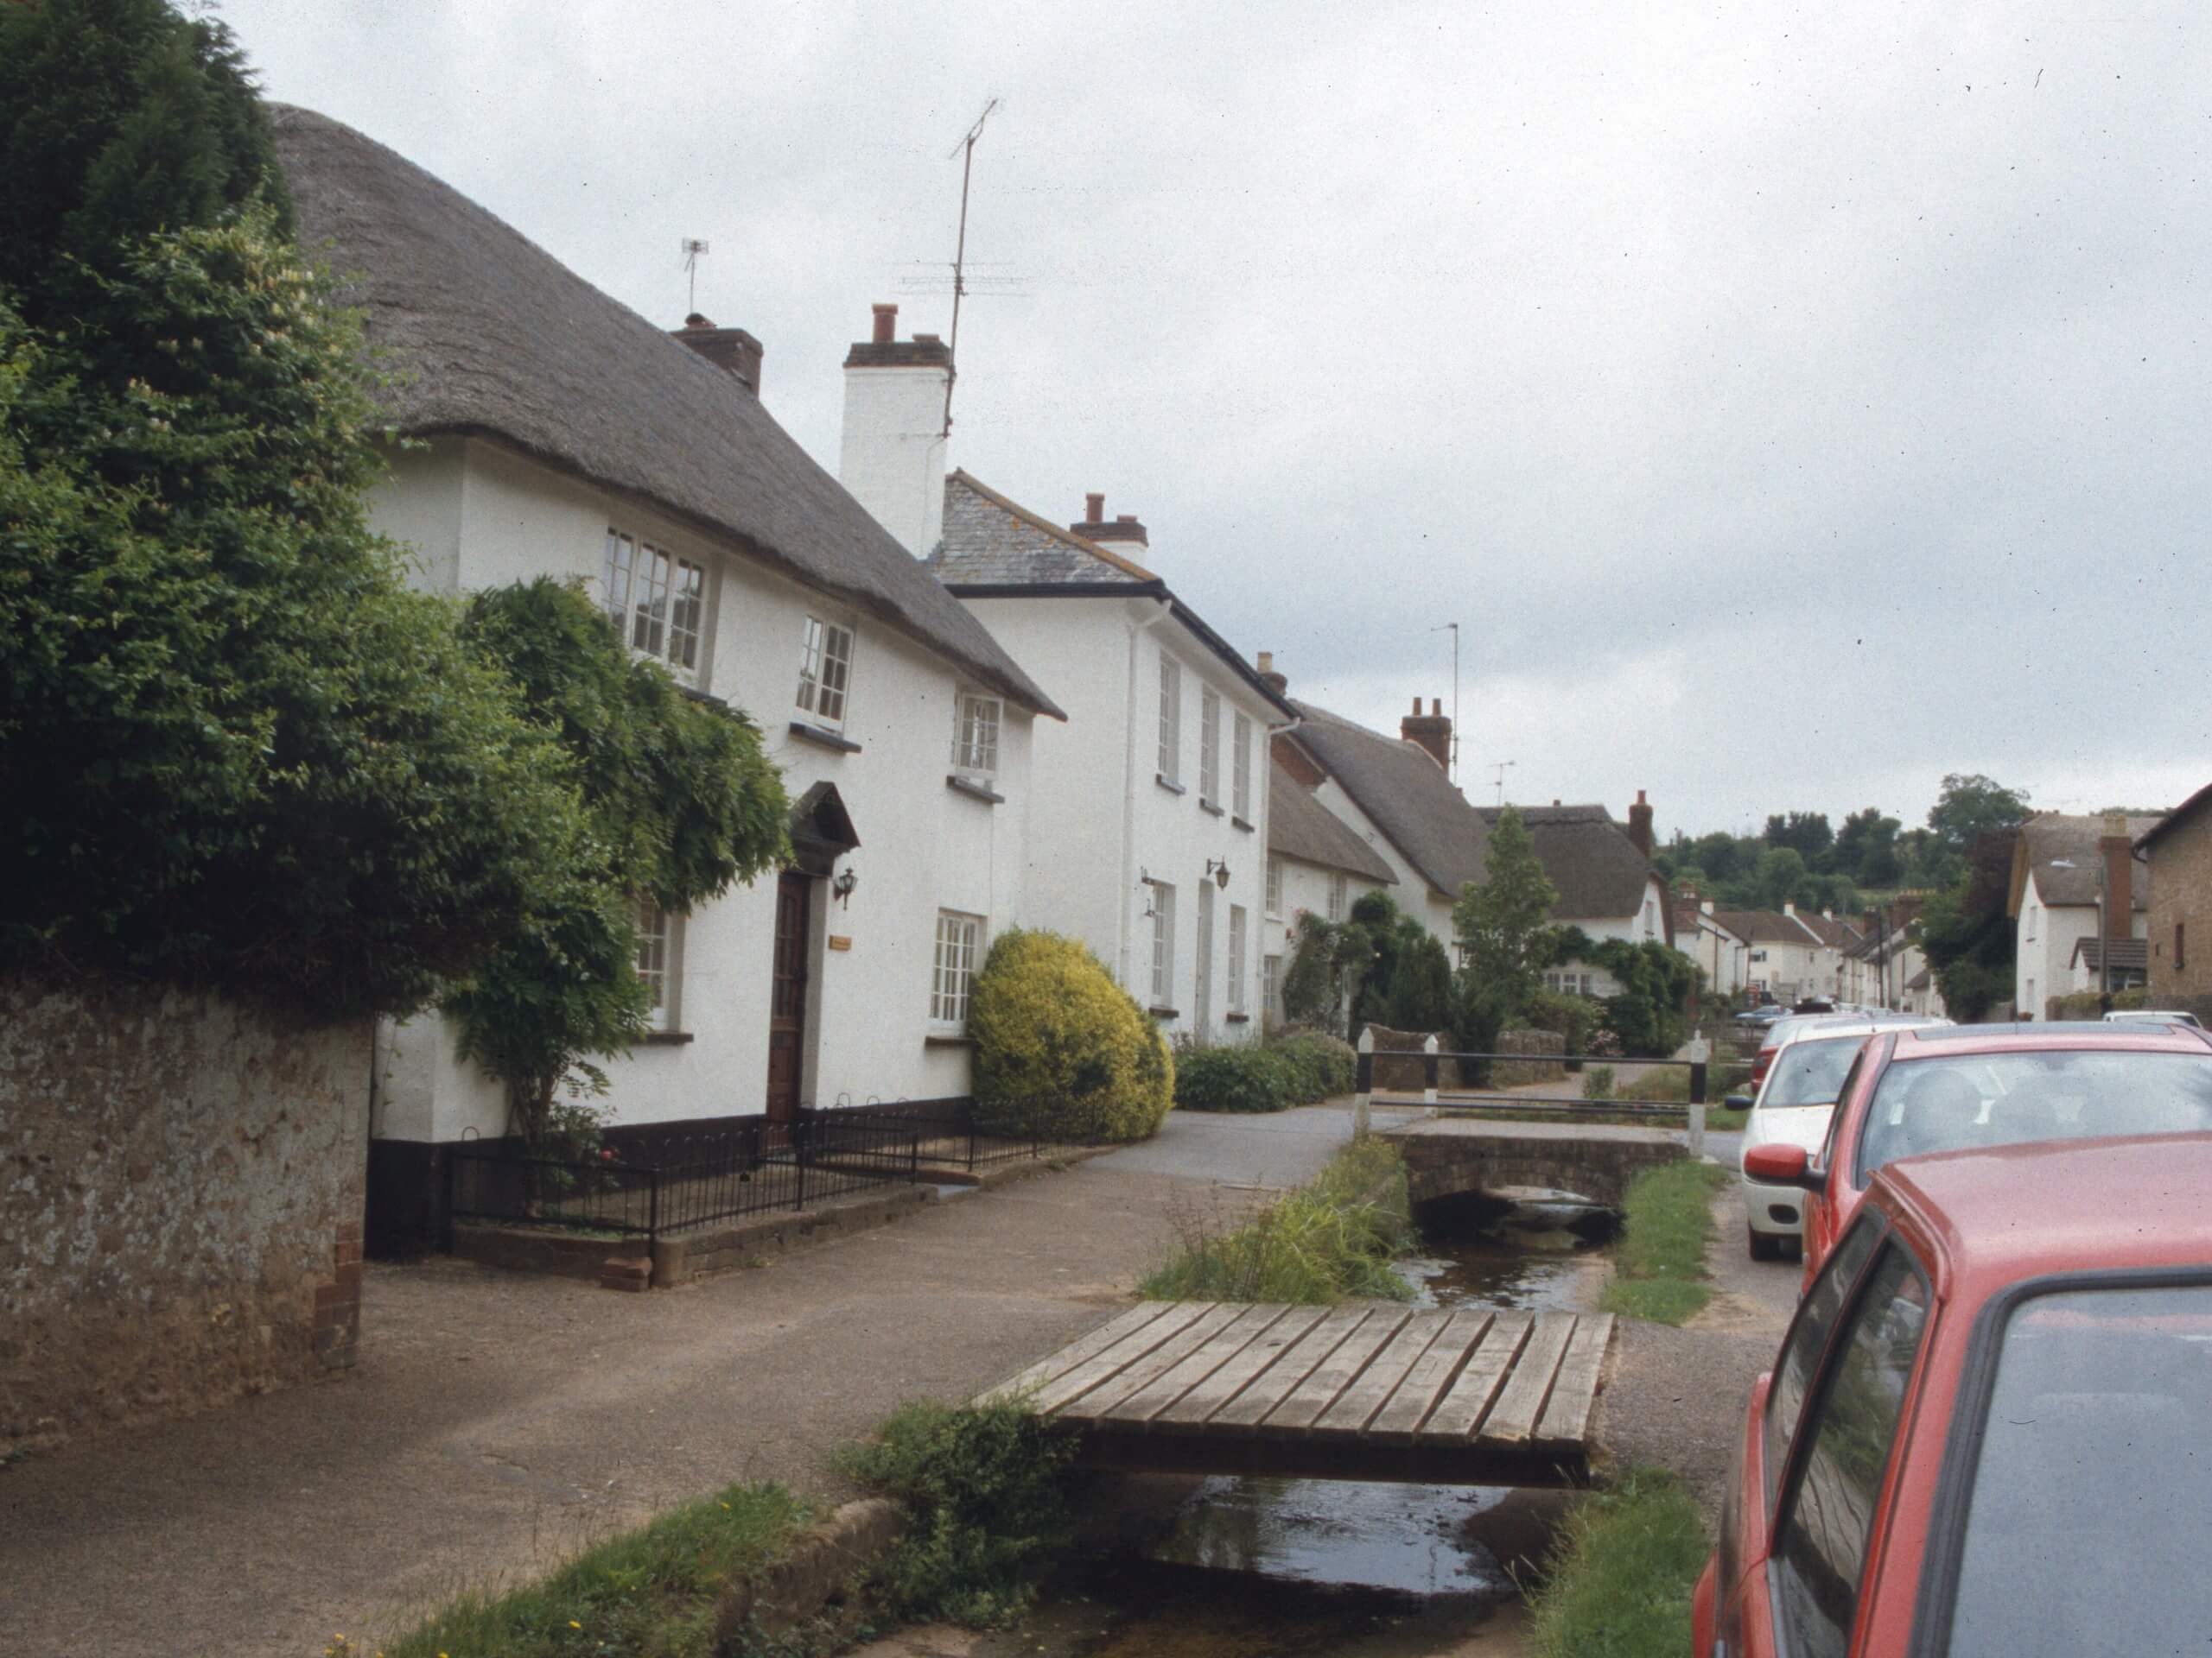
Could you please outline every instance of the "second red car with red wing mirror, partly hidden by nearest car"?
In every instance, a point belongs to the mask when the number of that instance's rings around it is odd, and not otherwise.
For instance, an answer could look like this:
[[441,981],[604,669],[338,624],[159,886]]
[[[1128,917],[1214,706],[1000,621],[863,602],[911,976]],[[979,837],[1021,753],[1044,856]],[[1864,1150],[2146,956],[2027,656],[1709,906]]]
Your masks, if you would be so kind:
[[[1805,1282],[1885,1163],[1927,1152],[2212,1132],[2212,1037],[2181,1026],[1936,1026],[1867,1039],[1827,1143],[1754,1145],[1743,1174],[1805,1200]],[[2212,1196],[2212,1194],[2208,1194]]]

